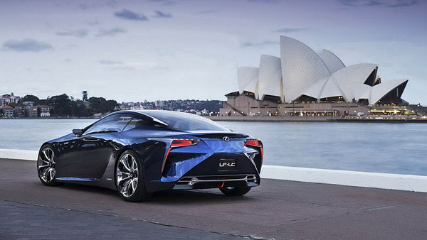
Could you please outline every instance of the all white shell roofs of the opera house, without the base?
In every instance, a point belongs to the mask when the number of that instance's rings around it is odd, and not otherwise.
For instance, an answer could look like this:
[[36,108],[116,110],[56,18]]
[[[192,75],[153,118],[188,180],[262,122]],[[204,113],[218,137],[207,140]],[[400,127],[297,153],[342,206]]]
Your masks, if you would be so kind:
[[[321,55],[322,58],[298,40],[280,36],[281,58],[261,55],[259,68],[237,68],[238,90],[241,94],[253,92],[258,100],[265,95],[280,97],[282,102],[292,102],[301,95],[315,99],[342,96],[346,101],[368,99],[369,104],[376,104],[408,81],[394,80],[371,87],[364,82],[378,65],[363,63],[345,67],[330,51],[323,50]],[[404,87],[399,91],[403,92]]]

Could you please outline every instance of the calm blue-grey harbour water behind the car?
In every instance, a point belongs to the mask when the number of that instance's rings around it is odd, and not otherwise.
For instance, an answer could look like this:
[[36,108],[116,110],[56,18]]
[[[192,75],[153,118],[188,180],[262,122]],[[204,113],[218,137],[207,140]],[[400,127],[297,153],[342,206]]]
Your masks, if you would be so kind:
[[[95,119],[0,119],[0,148],[41,143]],[[427,125],[384,123],[218,122],[260,138],[267,165],[427,175]]]

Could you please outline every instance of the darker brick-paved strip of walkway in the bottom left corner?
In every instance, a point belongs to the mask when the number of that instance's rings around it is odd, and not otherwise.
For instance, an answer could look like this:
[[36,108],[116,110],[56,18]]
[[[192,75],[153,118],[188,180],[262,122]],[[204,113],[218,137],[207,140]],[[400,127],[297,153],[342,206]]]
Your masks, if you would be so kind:
[[0,239],[242,239],[125,217],[0,201]]

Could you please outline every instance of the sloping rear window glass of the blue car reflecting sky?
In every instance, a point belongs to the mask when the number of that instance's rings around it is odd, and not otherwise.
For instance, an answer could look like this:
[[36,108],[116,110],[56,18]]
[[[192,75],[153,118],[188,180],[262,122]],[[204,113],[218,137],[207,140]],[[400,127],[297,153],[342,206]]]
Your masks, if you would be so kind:
[[194,114],[179,111],[144,111],[143,113],[159,119],[167,124],[170,129],[177,131],[230,131],[210,119]]

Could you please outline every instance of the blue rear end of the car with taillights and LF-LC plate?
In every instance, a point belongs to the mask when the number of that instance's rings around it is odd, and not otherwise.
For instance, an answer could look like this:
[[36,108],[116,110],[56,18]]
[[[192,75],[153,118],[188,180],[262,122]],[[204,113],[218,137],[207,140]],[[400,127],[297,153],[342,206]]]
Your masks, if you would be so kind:
[[[164,161],[164,180],[176,178],[173,189],[255,187],[260,184],[261,141],[231,132],[184,136],[189,146],[174,146],[172,141]],[[182,143],[182,140],[176,142]]]

